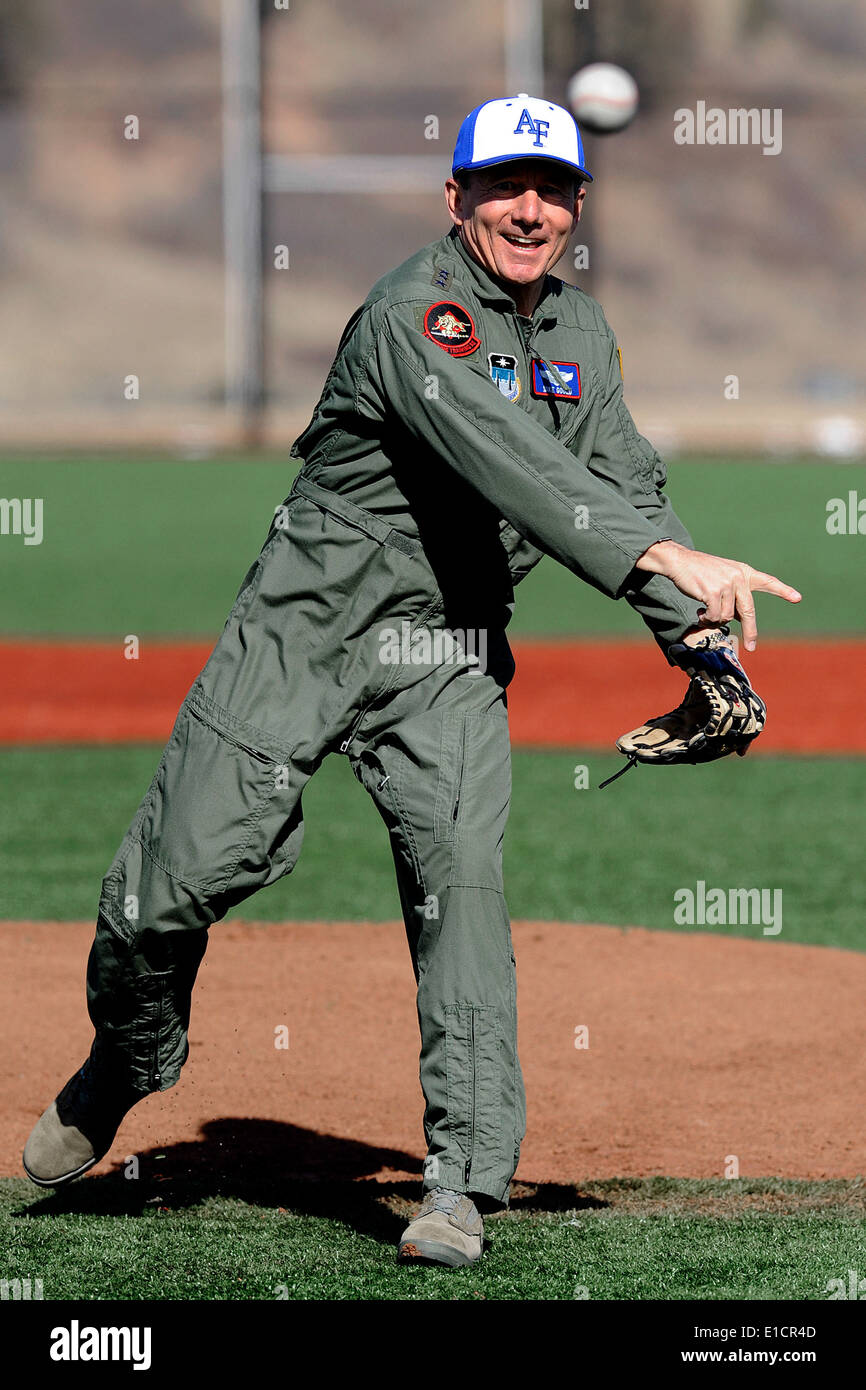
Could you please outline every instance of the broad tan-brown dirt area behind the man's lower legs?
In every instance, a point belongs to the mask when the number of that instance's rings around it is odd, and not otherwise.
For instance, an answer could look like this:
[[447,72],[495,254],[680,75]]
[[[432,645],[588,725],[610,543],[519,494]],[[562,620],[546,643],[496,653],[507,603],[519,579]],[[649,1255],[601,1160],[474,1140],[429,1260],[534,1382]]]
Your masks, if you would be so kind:
[[[92,927],[0,923],[0,1173],[83,1059]],[[641,927],[514,924],[528,1133],[518,1177],[866,1173],[866,955]],[[275,1030],[289,1047],[277,1048]],[[575,1029],[588,1029],[588,1048]],[[580,1034],[578,1034],[580,1040]],[[121,1130],[158,1176],[267,1163],[414,1177],[423,1152],[414,987],[398,924],[224,923],[193,999],[181,1083]],[[728,1172],[730,1176],[730,1172]]]

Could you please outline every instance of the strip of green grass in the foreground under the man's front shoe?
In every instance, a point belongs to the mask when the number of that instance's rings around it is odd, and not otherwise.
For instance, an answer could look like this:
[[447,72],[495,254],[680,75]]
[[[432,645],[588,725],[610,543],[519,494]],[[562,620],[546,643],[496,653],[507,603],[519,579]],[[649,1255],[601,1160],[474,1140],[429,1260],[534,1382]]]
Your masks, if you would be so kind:
[[[217,1166],[211,1169],[220,1172]],[[44,1298],[827,1300],[865,1268],[862,1180],[517,1187],[484,1259],[399,1268],[409,1183],[111,1175],[46,1197],[0,1182],[0,1269]],[[282,1209],[279,1209],[282,1208]]]

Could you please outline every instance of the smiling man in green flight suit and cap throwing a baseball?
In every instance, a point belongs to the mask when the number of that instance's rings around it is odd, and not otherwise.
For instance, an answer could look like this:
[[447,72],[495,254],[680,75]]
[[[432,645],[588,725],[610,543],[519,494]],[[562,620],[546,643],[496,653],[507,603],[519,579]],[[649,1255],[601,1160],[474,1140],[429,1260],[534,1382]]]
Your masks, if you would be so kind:
[[28,1140],[35,1182],[83,1173],[178,1080],[207,930],[295,866],[303,788],[339,752],[388,827],[418,987],[424,1202],[400,1254],[481,1255],[525,1129],[502,891],[513,585],[552,555],[664,651],[734,617],[751,648],[752,589],[799,598],[692,549],[599,306],[548,274],[589,179],[567,111],[484,103],[445,186],[452,231],[349,321],[292,492],[103,881],[96,1037]]

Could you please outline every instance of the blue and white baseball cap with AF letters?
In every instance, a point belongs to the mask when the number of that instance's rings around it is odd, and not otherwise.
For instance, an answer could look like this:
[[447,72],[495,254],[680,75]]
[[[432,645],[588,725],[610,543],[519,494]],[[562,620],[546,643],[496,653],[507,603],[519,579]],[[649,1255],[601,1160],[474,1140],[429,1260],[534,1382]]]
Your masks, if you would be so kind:
[[525,92],[482,101],[470,111],[457,135],[452,174],[509,160],[556,160],[592,182],[571,113]]

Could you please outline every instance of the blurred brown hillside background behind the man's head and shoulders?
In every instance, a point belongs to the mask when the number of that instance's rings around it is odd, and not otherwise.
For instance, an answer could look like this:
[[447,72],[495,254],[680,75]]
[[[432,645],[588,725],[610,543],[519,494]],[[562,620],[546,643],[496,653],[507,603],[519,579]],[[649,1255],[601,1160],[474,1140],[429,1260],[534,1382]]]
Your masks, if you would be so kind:
[[[463,115],[503,93],[502,0],[263,0],[261,14],[268,153],[435,154],[445,177]],[[862,455],[866,0],[546,0],[544,14],[544,95],[563,101],[599,58],[641,89],[632,126],[587,142],[589,272],[571,254],[557,267],[616,328],[641,427],[671,452]],[[1,0],[0,448],[231,441],[220,24],[218,0]],[[676,145],[674,111],[698,100],[781,107],[781,153]],[[373,281],[446,225],[439,193],[265,197],[268,445],[303,428]]]

